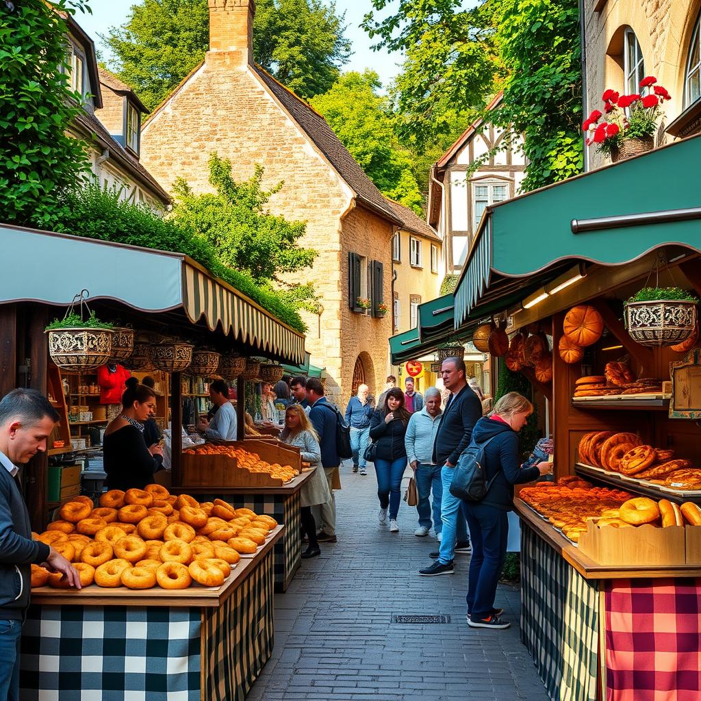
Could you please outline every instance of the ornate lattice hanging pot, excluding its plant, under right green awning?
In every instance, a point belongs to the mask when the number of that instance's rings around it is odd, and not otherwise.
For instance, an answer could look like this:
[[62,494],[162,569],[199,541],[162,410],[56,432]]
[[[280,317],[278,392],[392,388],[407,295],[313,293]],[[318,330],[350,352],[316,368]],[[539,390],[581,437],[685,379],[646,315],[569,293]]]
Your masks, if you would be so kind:
[[641,346],[674,346],[685,341],[696,327],[696,302],[656,299],[626,302],[625,326]]

